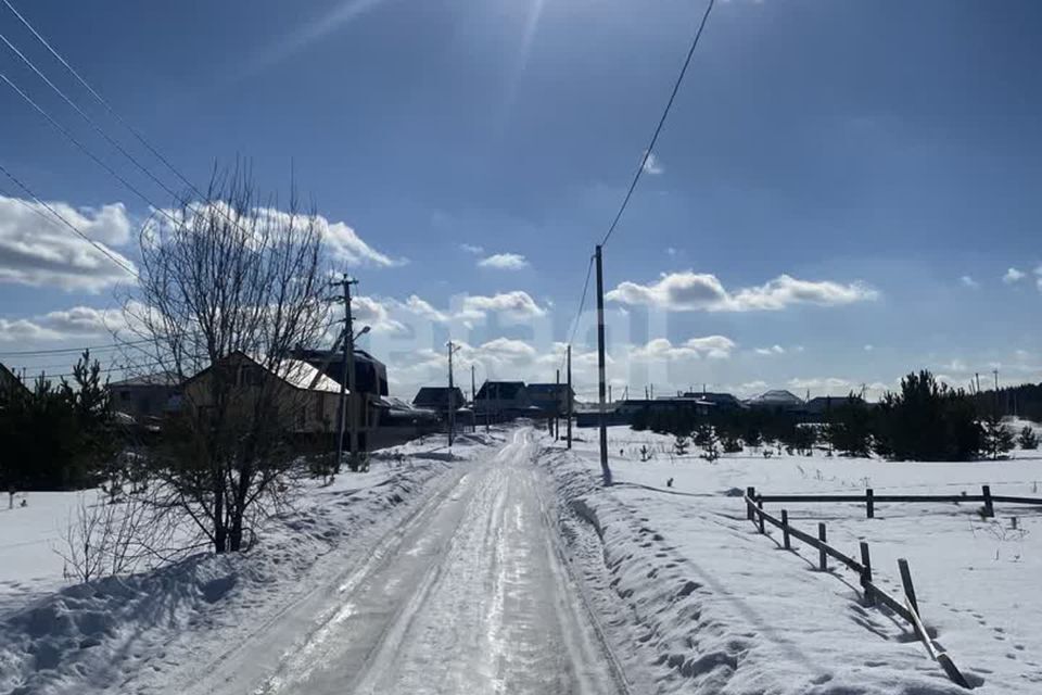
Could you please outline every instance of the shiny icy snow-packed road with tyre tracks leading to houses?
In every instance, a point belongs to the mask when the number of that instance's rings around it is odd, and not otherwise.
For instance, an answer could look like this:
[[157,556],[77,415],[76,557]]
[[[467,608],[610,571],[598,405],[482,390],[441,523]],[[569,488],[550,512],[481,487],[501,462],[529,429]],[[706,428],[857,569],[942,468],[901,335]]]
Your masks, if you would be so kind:
[[522,429],[460,466],[254,692],[620,692],[556,551],[534,455]]

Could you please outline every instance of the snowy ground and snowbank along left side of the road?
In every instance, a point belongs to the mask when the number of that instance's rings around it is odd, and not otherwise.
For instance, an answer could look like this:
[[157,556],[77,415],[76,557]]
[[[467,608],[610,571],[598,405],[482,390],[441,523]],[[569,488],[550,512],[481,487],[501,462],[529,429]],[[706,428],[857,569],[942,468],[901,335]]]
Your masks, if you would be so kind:
[[[479,433],[453,454],[486,448]],[[367,473],[308,483],[247,554],[201,554],[90,586],[68,585],[52,547],[79,496],[97,493],[30,493],[26,507],[0,513],[0,693],[182,691],[218,662],[234,671],[277,658],[276,633],[304,629],[335,578],[442,484],[447,458],[444,438],[386,450]],[[234,650],[266,636],[270,655]]]

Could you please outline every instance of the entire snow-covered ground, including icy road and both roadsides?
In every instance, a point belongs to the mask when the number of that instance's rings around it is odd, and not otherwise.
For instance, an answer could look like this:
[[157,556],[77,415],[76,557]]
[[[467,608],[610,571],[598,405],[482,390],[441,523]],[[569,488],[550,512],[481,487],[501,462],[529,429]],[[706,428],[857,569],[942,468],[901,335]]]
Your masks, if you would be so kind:
[[[948,695],[963,691],[862,605],[856,577],[757,533],[741,492],[1042,494],[1033,453],[708,463],[627,428],[610,430],[605,489],[596,430],[576,434],[572,452],[523,426],[452,457],[443,438],[414,442],[308,483],[250,553],[90,586],[68,586],[51,549],[77,493],[30,494],[0,511],[0,693]],[[907,558],[927,626],[980,692],[1042,692],[1042,509],[786,506],[850,555],[867,540],[894,594]]]

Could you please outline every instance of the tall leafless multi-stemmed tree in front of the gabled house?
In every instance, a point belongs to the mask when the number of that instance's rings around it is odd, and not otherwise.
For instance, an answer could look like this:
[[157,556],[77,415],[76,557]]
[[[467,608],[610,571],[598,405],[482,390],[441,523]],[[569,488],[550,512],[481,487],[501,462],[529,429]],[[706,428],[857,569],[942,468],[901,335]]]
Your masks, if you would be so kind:
[[310,392],[287,384],[309,378],[293,349],[328,327],[321,240],[295,193],[283,210],[262,201],[241,167],[215,172],[205,201],[179,201],[141,230],[126,321],[153,369],[186,384],[156,466],[163,504],[217,553],[242,549],[284,501],[298,458],[290,434],[312,421]]

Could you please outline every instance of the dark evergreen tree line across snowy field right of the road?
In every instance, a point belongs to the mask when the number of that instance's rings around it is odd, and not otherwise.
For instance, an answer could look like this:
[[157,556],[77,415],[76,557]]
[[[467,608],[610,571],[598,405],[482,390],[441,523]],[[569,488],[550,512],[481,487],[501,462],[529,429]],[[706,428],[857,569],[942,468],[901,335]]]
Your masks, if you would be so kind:
[[[1033,388],[1033,387],[1032,387]],[[891,460],[975,460],[1000,458],[1019,444],[1037,448],[1030,427],[1014,432],[1002,422],[1002,413],[986,407],[987,401],[963,389],[940,383],[928,370],[912,372],[897,392],[877,404],[850,394],[837,399],[821,417],[784,408],[717,410],[647,410],[635,416],[633,429],[673,434],[686,451],[688,438],[696,445],[709,442],[723,452],[742,448],[767,453],[810,453],[867,456]],[[713,439],[709,439],[713,438]]]

